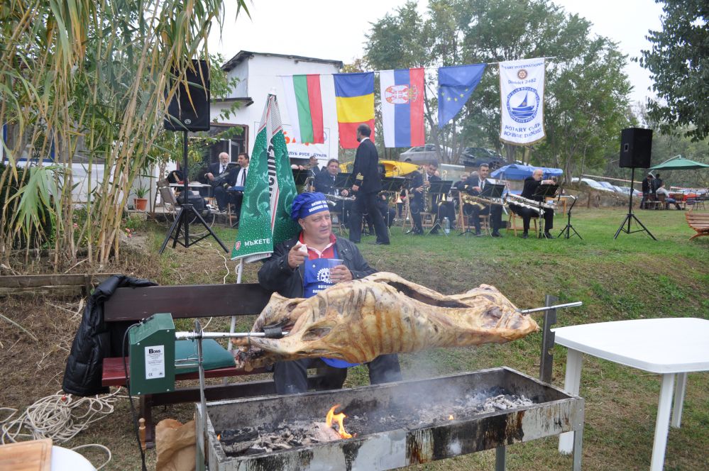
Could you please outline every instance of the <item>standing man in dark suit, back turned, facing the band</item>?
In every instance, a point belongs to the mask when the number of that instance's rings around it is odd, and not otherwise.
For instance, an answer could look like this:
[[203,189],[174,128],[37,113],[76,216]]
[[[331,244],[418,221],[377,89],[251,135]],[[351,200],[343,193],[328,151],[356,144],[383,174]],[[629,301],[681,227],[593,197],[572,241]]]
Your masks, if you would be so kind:
[[350,240],[359,243],[362,237],[362,214],[366,210],[374,220],[374,230],[378,245],[389,245],[389,232],[377,206],[377,194],[382,189],[382,177],[379,174],[379,153],[369,136],[372,130],[366,124],[357,127],[359,146],[355,154],[352,173],[355,184],[352,191],[355,202],[350,218]]

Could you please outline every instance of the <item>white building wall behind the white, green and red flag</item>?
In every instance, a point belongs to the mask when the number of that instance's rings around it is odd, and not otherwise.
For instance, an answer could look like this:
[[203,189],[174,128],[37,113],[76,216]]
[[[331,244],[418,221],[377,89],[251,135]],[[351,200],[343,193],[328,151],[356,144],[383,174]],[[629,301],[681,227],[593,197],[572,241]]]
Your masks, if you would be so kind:
[[[283,130],[286,136],[288,152],[291,157],[309,157],[316,155],[320,165],[326,165],[327,160],[337,158],[339,146],[339,135],[337,132],[337,113],[335,108],[335,87],[332,74],[339,72],[336,65],[322,64],[319,62],[307,62],[305,60],[294,60],[286,57],[273,57],[268,55],[253,55],[244,60],[230,71],[234,77],[241,79],[241,83],[236,87],[233,96],[248,96],[253,99],[251,106],[242,106],[234,113],[228,121],[233,124],[245,124],[248,126],[248,153],[253,153],[253,145],[256,138],[256,131],[263,115],[263,108],[266,98],[271,89],[275,89],[278,104],[283,121]],[[240,74],[246,73],[247,77]],[[283,94],[282,75],[295,74],[324,74],[321,80],[321,95],[323,104],[323,123],[325,131],[324,144],[300,144],[292,141],[292,130],[290,128],[290,118],[285,106]],[[242,85],[245,84],[245,87]],[[240,95],[238,91],[246,89],[248,95]],[[211,117],[215,118],[221,110],[220,104],[212,104]]]

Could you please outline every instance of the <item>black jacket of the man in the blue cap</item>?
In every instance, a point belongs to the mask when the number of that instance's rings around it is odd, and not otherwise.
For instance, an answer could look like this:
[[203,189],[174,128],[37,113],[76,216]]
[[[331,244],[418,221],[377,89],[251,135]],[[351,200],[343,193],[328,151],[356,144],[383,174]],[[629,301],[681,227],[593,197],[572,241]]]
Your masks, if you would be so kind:
[[[297,238],[293,238],[276,245],[273,255],[258,270],[258,282],[262,287],[287,298],[303,297],[304,264],[296,270],[288,266],[288,252],[297,241]],[[335,250],[337,258],[341,258],[342,264],[352,272],[353,279],[360,279],[377,271],[369,266],[357,246],[349,240],[337,238]]]

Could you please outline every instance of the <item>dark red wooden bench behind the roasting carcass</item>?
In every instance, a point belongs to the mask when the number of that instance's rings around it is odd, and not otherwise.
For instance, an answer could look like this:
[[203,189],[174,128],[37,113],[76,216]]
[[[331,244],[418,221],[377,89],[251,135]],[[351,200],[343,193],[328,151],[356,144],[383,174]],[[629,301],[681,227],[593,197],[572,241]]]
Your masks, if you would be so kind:
[[[260,314],[268,303],[271,293],[259,284],[201,284],[188,286],[156,286],[145,288],[119,288],[104,303],[104,322],[138,322],[144,318],[168,312],[173,319],[204,318],[211,316],[249,316]],[[178,330],[192,330],[184,328]],[[126,360],[126,364],[128,360]],[[218,378],[265,373],[265,370],[246,372],[236,367],[207,370],[205,377]],[[128,372],[130,375],[130,372]],[[175,382],[197,379],[196,372],[175,376]],[[321,376],[308,378],[310,388],[318,387]],[[125,386],[126,375],[123,358],[104,358],[101,384],[104,386]],[[204,395],[209,401],[238,397],[275,394],[272,379],[265,381],[240,382],[233,384],[209,385]],[[176,387],[175,391],[160,394],[144,394],[140,398],[140,414],[145,419],[145,442],[153,446],[154,427],[152,408],[168,404],[199,401],[199,387]]]

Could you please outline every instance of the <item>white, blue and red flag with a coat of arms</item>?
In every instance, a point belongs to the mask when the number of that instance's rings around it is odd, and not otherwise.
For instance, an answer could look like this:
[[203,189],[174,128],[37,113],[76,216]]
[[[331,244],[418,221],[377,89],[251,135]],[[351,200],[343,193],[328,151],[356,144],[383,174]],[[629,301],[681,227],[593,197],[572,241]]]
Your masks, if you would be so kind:
[[424,70],[379,72],[384,147],[424,145]]

